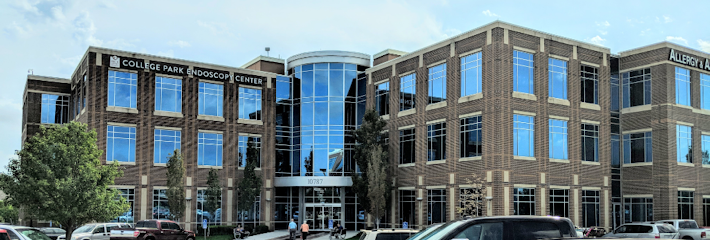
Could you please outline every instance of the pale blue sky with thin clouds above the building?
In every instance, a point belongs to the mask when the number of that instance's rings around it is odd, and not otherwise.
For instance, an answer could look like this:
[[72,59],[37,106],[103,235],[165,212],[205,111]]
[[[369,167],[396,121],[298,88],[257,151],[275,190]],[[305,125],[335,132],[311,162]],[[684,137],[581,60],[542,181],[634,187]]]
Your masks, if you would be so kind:
[[27,70],[68,78],[90,45],[238,67],[267,46],[281,58],[408,52],[502,20],[612,53],[666,40],[710,52],[708,10],[710,1],[2,1],[0,165],[20,148]]

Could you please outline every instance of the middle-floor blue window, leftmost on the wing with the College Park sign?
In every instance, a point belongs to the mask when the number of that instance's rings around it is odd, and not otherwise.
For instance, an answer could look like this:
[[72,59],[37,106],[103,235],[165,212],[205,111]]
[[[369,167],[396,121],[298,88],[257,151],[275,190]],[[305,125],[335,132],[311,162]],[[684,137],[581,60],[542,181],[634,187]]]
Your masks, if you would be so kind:
[[106,161],[136,161],[136,128],[108,126],[106,134]]

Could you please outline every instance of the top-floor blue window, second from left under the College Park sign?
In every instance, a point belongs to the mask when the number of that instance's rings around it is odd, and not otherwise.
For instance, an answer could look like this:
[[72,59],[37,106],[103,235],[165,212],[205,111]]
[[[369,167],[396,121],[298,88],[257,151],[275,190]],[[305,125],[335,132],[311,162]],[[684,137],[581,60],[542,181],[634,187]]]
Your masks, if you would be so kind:
[[182,111],[182,80],[155,77],[155,110]]

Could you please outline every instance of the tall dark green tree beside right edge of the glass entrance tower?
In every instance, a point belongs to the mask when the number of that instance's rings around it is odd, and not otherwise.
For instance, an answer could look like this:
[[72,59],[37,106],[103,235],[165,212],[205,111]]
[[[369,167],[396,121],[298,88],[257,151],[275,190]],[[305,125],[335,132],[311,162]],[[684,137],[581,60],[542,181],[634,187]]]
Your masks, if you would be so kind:
[[[387,126],[387,122],[380,118],[377,111],[375,111],[375,109],[368,109],[365,111],[365,115],[362,118],[362,125],[360,125],[357,130],[353,131],[353,136],[357,142],[353,158],[361,172],[360,174],[353,174],[351,177],[353,180],[353,191],[357,194],[358,203],[364,209],[370,211],[370,214],[372,214],[372,208],[368,197],[370,189],[368,167],[372,161],[372,149],[375,149],[375,146],[380,146],[383,152],[382,164],[385,166],[389,166],[390,164],[387,157],[389,154],[387,145],[385,144],[385,135],[383,134],[385,126]],[[353,169],[353,171],[355,171],[355,169]],[[389,178],[390,175],[387,176],[388,182]],[[385,199],[390,198],[391,188],[392,186],[390,184],[386,184],[386,191],[384,191],[383,194]]]

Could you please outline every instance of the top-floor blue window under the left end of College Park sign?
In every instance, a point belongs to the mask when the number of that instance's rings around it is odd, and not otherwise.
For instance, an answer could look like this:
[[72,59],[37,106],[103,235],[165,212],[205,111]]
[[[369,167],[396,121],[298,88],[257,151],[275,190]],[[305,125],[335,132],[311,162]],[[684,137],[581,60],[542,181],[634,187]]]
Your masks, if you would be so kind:
[[108,71],[108,106],[136,108],[138,75]]

